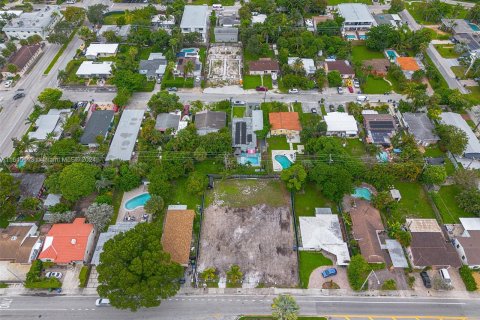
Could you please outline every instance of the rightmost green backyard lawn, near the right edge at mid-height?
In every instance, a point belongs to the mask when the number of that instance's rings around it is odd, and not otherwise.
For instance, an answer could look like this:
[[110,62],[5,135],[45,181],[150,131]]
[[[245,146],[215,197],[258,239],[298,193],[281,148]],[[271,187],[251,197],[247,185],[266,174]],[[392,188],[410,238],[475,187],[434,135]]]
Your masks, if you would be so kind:
[[459,218],[474,218],[458,207],[455,197],[461,192],[457,185],[442,186],[437,193],[432,193],[433,201],[442,215],[443,223],[459,223]]

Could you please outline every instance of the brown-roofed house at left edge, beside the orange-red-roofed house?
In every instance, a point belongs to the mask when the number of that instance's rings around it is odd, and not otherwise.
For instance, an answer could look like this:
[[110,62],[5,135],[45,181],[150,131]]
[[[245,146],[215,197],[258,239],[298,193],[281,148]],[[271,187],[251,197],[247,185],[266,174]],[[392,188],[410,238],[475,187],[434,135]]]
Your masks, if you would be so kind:
[[0,261],[29,264],[35,260],[42,247],[37,230],[33,222],[10,223],[0,229]]

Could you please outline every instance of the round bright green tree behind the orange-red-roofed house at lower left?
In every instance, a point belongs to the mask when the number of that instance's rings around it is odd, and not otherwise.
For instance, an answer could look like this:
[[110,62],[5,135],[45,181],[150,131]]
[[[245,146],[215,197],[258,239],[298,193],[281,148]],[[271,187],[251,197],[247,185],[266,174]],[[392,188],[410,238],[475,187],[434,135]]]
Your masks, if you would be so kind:
[[98,173],[97,167],[87,163],[72,163],[63,168],[58,179],[63,197],[76,201],[94,192]]

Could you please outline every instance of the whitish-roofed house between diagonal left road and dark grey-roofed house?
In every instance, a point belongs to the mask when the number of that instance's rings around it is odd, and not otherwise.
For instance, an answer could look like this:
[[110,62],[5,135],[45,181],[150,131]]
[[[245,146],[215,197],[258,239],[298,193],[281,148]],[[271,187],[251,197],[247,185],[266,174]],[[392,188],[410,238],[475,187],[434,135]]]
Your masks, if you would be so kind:
[[63,123],[70,116],[70,109],[50,109],[47,114],[42,114],[35,121],[34,130],[28,133],[28,137],[35,140],[45,140],[49,134],[58,140],[63,132]]

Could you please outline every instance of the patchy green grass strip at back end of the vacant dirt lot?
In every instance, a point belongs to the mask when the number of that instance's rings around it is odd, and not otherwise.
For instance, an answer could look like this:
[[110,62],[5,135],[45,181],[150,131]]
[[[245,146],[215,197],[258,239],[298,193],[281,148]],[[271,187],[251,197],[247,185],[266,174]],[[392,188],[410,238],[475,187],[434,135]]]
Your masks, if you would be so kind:
[[271,207],[289,206],[290,197],[285,184],[279,180],[217,180],[207,192],[207,204],[220,201],[233,208],[266,204]]

